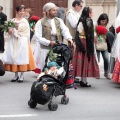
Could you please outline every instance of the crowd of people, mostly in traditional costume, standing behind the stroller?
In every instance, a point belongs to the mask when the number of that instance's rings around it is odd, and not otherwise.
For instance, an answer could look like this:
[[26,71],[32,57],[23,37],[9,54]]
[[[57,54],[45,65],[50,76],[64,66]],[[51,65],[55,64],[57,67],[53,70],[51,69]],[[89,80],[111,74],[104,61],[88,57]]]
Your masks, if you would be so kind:
[[[73,76],[78,78],[81,87],[91,87],[87,77],[100,79],[100,53],[104,61],[104,76],[120,83],[120,13],[115,21],[115,35],[108,30],[109,17],[102,13],[98,20],[93,21],[93,9],[83,7],[83,1],[75,0],[72,9],[67,12],[58,4],[46,3],[43,6],[44,17],[32,16],[32,11],[24,5],[16,7],[16,17],[11,21],[17,27],[8,28],[10,35],[8,47],[4,49],[4,32],[0,27],[0,52],[6,71],[15,73],[11,82],[24,81],[24,72],[44,69],[47,53],[58,42],[68,43],[72,46]],[[7,16],[0,6],[0,24],[4,25]],[[36,21],[30,22],[33,18]],[[117,30],[117,32],[116,32]],[[36,47],[31,50],[31,39],[35,36]],[[115,39],[114,39],[115,38]],[[114,63],[110,62],[114,59]],[[110,77],[110,68],[112,78]],[[39,69],[39,70],[38,70]],[[20,72],[20,75],[19,75]]]

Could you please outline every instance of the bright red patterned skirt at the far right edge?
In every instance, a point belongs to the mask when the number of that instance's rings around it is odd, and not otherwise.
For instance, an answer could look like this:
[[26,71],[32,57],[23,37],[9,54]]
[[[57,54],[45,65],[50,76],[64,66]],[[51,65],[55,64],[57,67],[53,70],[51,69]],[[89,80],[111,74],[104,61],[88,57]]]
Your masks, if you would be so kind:
[[116,83],[120,83],[120,62],[118,59],[116,59],[115,62],[115,67],[112,74],[112,81]]

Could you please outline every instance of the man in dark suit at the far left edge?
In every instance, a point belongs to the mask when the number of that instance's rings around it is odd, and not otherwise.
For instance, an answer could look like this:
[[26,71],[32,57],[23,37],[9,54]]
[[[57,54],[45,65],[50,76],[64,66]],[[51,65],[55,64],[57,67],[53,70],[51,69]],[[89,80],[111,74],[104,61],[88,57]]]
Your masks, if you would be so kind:
[[[2,12],[3,7],[0,6],[0,25],[4,25],[5,21],[7,21],[7,16]],[[4,52],[4,32],[0,27],[0,53]]]

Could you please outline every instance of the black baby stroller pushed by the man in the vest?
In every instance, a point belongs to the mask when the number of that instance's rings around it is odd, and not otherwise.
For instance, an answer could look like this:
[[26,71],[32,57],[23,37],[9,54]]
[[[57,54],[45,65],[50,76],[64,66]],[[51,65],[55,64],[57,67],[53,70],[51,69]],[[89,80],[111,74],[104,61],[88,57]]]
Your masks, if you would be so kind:
[[33,83],[30,100],[28,101],[28,105],[31,108],[35,108],[37,103],[44,105],[49,102],[48,108],[56,111],[58,105],[52,102],[52,98],[53,96],[56,97],[59,95],[63,95],[61,98],[62,104],[66,105],[69,102],[69,98],[66,96],[66,89],[74,85],[74,79],[69,75],[69,63],[72,59],[71,49],[65,44],[57,44],[53,46],[51,50],[54,55],[51,54],[51,52],[48,53],[44,68],[46,68],[48,61],[54,59],[59,66],[64,66],[64,71],[58,78],[46,74]]

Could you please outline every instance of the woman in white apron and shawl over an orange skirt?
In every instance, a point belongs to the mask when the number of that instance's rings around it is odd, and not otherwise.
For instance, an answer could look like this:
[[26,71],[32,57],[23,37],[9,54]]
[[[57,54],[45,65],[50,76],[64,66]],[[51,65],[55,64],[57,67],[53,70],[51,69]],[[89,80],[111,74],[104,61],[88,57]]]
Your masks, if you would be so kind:
[[[23,18],[25,7],[16,7],[16,17],[11,21],[16,23],[17,28],[10,28],[10,40],[2,60],[6,71],[15,72],[11,82],[24,80],[24,72],[34,70],[35,63],[32,49],[30,47],[30,27],[28,21]],[[18,72],[21,72],[20,76]]]

